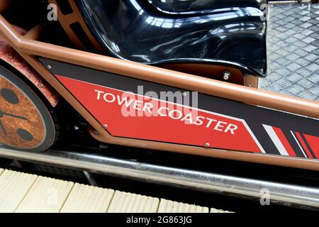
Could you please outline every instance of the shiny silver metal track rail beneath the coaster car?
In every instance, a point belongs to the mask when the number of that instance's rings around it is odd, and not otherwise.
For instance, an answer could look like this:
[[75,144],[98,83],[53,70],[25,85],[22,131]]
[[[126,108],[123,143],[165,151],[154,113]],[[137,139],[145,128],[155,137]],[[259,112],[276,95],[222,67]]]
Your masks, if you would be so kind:
[[142,162],[106,157],[101,154],[75,153],[69,151],[46,151],[26,153],[0,148],[0,157],[29,162],[40,162],[77,170],[99,172],[143,182],[166,184],[173,187],[196,189],[240,197],[260,199],[263,192],[270,192],[271,203],[319,208],[319,188],[293,184],[218,175],[211,172],[183,170],[174,167],[150,165]]

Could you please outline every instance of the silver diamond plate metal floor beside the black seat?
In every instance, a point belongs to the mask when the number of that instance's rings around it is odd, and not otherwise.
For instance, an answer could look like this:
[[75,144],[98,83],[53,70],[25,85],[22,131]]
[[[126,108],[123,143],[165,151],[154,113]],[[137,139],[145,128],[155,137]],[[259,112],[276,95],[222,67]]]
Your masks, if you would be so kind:
[[319,5],[271,5],[269,16],[260,89],[319,101]]

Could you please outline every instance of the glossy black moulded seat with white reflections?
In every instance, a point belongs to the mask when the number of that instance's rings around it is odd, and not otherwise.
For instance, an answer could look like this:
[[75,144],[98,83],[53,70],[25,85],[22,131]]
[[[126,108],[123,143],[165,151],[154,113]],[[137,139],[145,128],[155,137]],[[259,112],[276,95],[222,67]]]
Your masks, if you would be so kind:
[[77,0],[115,57],[159,64],[218,62],[266,72],[266,21],[258,0]]

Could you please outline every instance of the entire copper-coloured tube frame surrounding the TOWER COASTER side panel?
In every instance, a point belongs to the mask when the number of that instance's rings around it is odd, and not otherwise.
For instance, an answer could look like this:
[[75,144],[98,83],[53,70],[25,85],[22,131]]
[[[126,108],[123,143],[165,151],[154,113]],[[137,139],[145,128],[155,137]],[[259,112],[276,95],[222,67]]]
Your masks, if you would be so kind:
[[[232,99],[248,104],[265,106],[281,111],[288,111],[293,114],[300,114],[313,118],[319,118],[319,103],[316,101],[308,101],[292,96],[285,96],[273,92],[264,92],[258,89],[244,87],[227,82],[219,82],[214,79],[194,76],[172,70],[164,70],[159,67],[142,65],[136,62],[119,60],[113,57],[96,55],[81,50],[73,50],[49,43],[43,43],[36,40],[30,40],[35,36],[30,31],[26,37],[16,33],[11,24],[0,15],[0,33],[11,43],[26,61],[33,66],[39,74],[43,76],[59,92],[79,114],[90,123],[95,131],[90,130],[91,135],[97,140],[105,143],[113,143],[118,145],[134,146],[138,148],[149,148],[155,150],[167,150],[176,153],[188,153],[193,155],[203,155],[209,157],[220,157],[232,160],[242,160],[246,162],[259,162],[269,165],[281,165],[289,167],[299,167],[310,170],[319,170],[318,160],[300,159],[294,157],[281,157],[276,155],[259,155],[254,153],[242,153],[234,151],[216,150],[210,148],[198,148],[187,145],[174,145],[171,143],[160,143],[145,140],[135,140],[128,138],[116,138],[110,135],[96,121],[77,99],[70,94],[65,87],[52,76],[52,74],[32,55],[47,57],[52,60],[69,62],[74,65],[82,65],[96,70],[113,72],[115,74],[123,74],[136,79],[144,79],[150,82],[166,84],[169,86],[179,87],[191,91],[201,92],[212,96],[218,96],[225,99]],[[134,72],[134,73],[132,73]]]

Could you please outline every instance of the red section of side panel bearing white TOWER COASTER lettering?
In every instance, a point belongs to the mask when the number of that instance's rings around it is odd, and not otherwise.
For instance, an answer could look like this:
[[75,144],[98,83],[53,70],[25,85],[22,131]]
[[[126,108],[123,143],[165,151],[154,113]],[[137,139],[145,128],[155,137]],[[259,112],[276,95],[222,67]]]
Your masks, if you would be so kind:
[[264,152],[247,123],[240,118],[68,77],[57,78],[101,124],[107,125],[113,136]]

